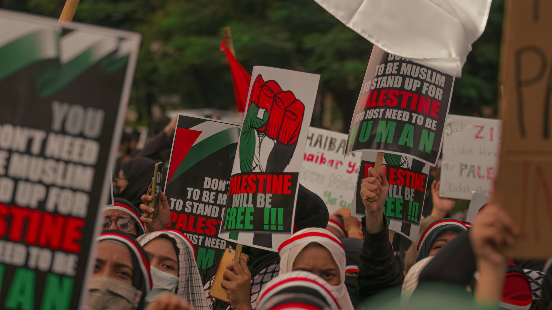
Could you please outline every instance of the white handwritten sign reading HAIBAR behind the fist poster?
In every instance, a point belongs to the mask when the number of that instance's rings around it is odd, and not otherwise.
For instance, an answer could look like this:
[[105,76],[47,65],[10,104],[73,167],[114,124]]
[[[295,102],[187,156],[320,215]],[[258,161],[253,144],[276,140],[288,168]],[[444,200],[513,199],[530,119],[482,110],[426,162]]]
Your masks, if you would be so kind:
[[311,127],[300,183],[324,200],[330,214],[353,205],[360,155],[345,156],[347,135]]

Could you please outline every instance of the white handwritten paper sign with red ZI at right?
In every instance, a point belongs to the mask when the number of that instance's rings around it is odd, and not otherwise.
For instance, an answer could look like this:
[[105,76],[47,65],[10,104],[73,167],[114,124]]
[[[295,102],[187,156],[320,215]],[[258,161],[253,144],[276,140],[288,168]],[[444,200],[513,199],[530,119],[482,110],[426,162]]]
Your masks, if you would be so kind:
[[497,119],[449,115],[441,160],[440,197],[471,199],[489,194],[502,139]]

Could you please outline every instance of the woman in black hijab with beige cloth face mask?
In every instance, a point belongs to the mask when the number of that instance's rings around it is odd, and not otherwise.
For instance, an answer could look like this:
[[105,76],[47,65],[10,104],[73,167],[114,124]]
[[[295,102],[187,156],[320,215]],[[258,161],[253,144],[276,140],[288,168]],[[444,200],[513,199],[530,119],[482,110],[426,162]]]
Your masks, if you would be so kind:
[[150,261],[134,236],[108,230],[98,236],[85,310],[141,310],[152,287]]

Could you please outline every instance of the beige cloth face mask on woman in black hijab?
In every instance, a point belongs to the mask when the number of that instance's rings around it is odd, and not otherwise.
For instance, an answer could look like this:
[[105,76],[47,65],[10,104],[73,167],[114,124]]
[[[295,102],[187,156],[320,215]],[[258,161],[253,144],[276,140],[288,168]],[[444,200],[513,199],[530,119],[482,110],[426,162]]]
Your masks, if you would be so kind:
[[94,276],[88,285],[84,310],[134,310],[142,292],[110,276]]

